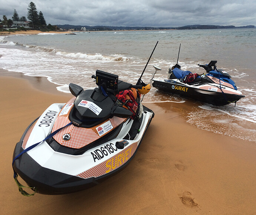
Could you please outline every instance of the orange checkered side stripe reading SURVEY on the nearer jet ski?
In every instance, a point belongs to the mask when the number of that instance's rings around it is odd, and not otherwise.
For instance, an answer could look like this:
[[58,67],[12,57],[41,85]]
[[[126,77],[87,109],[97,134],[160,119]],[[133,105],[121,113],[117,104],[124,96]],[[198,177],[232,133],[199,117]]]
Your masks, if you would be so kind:
[[88,169],[85,172],[82,172],[76,176],[80,178],[91,178],[91,177],[99,177],[105,175],[106,173],[112,172],[113,170],[119,168],[124,165],[131,157],[134,155],[137,149],[137,142],[132,143],[130,146],[125,148],[125,150],[119,152],[117,155],[100,163],[97,166],[94,166],[91,169]]

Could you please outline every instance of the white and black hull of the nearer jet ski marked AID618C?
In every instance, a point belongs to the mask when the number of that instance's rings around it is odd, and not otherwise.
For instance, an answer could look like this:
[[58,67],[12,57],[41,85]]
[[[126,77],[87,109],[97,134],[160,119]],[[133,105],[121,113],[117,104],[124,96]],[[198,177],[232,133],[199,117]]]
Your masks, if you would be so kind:
[[[24,148],[45,138],[64,107],[65,104],[53,104],[39,119],[32,122],[22,135],[20,142],[16,144],[13,158]],[[56,112],[56,116],[50,115],[49,110],[52,113]],[[52,122],[49,126],[42,126],[42,122],[47,121],[46,116],[53,116]],[[16,159],[13,169],[28,186],[42,194],[59,195],[90,188],[127,166],[137,152],[153,117],[154,112],[143,106],[140,119],[126,120],[119,125],[122,128],[113,139],[81,150],[77,155],[58,152],[49,143],[43,141]]]

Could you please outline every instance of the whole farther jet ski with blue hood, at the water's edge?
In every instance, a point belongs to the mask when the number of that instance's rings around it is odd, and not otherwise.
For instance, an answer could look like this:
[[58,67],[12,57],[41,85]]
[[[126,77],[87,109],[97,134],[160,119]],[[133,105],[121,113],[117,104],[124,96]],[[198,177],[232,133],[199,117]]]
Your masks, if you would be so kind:
[[231,76],[222,69],[217,69],[217,60],[209,64],[198,64],[207,74],[198,75],[181,70],[176,64],[168,70],[168,79],[153,79],[152,86],[158,90],[182,97],[222,106],[235,103],[244,97]]

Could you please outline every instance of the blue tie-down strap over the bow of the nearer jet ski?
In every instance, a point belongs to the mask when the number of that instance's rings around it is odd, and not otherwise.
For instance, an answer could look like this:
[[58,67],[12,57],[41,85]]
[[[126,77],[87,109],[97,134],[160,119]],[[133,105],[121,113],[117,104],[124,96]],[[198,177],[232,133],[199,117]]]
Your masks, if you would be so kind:
[[[63,128],[65,128],[65,127],[71,125],[71,124],[72,124],[72,122],[68,123],[67,125],[63,126],[62,128],[59,128],[58,130],[56,130],[55,132],[50,133],[50,134],[49,134],[45,139],[43,139],[42,141],[40,141],[40,142],[38,142],[38,143],[35,143],[34,145],[29,146],[28,148],[26,148],[25,150],[23,150],[22,152],[20,152],[19,155],[17,155],[17,156],[13,159],[12,166],[13,166],[13,164],[14,164],[14,161],[15,161],[17,158],[19,158],[23,153],[25,153],[25,152],[27,152],[27,151],[29,151],[29,150],[35,148],[35,147],[36,147],[37,145],[39,145],[40,143],[42,143],[43,141],[45,141],[45,140],[47,140],[47,139],[53,137],[53,136],[56,135],[56,133],[58,133],[61,129],[63,129]],[[21,185],[21,184],[18,182],[18,180],[17,180],[18,174],[17,174],[17,172],[14,171],[14,169],[13,169],[13,172],[14,172],[13,178],[14,178],[15,182],[17,183],[17,185],[18,185],[18,187],[19,187],[19,191],[22,193],[22,195],[24,195],[24,196],[31,196],[31,195],[34,195],[35,193],[33,193],[33,194],[28,194],[27,192],[25,192],[25,191],[22,190],[22,188],[27,188],[27,187]],[[30,188],[30,187],[29,187],[29,188]],[[36,191],[35,191],[35,192],[36,192]]]

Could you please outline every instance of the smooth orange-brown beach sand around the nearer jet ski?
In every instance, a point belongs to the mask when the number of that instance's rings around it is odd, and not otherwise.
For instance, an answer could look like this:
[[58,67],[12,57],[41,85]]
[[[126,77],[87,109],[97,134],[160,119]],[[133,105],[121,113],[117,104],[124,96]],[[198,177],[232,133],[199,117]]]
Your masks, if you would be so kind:
[[255,143],[186,123],[182,103],[144,103],[155,117],[137,154],[101,184],[67,195],[22,196],[13,179],[14,146],[50,104],[71,95],[45,78],[8,74],[0,69],[1,214],[256,213]]

